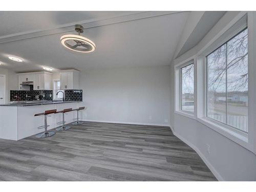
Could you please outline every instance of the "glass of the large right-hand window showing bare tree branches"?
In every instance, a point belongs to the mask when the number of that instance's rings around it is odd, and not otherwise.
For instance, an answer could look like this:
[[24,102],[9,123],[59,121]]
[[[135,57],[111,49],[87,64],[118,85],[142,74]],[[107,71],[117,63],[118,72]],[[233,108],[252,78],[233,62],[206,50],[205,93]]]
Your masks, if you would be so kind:
[[248,30],[206,56],[206,116],[248,133]]

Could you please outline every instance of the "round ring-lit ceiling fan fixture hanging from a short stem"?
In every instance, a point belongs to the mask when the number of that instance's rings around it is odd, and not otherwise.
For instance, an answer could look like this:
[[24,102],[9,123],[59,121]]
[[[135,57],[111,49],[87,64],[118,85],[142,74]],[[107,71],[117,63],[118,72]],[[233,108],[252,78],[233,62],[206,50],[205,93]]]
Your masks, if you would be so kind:
[[83,32],[83,27],[81,25],[75,25],[75,31],[78,35],[67,34],[60,37],[61,44],[73,51],[81,53],[90,53],[95,50],[95,44],[92,40],[83,37],[80,33]]

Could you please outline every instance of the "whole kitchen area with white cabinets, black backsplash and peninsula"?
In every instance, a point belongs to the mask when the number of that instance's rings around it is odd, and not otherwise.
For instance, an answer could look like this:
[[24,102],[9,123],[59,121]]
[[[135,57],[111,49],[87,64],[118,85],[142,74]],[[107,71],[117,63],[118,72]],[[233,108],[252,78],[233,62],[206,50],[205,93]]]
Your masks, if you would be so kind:
[[[42,132],[44,117],[34,117],[37,113],[79,108],[82,90],[78,90],[78,74],[77,70],[57,72],[54,75],[60,77],[60,86],[56,87],[56,79],[53,81],[51,72],[18,73],[18,90],[10,90],[10,102],[0,105],[1,138],[19,140]],[[66,123],[73,122],[75,118],[77,111],[65,115]],[[58,123],[61,120],[61,114],[52,114],[47,129],[62,126]]]

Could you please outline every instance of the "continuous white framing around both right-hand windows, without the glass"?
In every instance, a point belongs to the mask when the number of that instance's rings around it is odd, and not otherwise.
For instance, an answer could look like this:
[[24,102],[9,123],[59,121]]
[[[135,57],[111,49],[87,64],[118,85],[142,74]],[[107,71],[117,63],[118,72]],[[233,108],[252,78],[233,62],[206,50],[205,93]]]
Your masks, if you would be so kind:
[[[245,15],[247,14],[247,24],[239,23],[240,27],[235,27]],[[256,22],[254,22],[256,23]],[[219,134],[227,137],[233,142],[238,143],[242,147],[256,154],[256,118],[254,117],[256,114],[256,89],[254,89],[254,83],[256,83],[256,77],[254,77],[254,72],[256,70],[256,66],[254,66],[254,60],[256,61],[256,56],[254,54],[254,50],[256,51],[256,47],[253,46],[254,37],[256,35],[256,28],[253,23],[253,13],[252,12],[241,12],[236,17],[234,17],[229,24],[227,24],[214,38],[210,39],[208,44],[199,50],[195,55],[185,59],[184,61],[178,63],[174,66],[175,70],[175,109],[174,113],[186,116],[191,119],[195,119],[198,122],[206,125],[210,129],[218,132]],[[240,31],[244,28],[248,28],[248,134],[229,125],[223,124],[214,119],[210,119],[206,117],[206,69],[205,69],[205,57],[216,48],[220,47],[224,42],[231,39],[233,36],[236,36]],[[237,29],[236,29],[237,28]],[[235,29],[232,31],[232,29]],[[255,30],[254,30],[255,29]],[[254,32],[255,31],[255,32]],[[179,110],[179,73],[178,69],[184,63],[189,62],[194,59],[194,115],[190,115],[184,113]],[[187,63],[188,64],[188,63]],[[254,83],[253,83],[254,82]],[[200,89],[198,89],[200,88]]]

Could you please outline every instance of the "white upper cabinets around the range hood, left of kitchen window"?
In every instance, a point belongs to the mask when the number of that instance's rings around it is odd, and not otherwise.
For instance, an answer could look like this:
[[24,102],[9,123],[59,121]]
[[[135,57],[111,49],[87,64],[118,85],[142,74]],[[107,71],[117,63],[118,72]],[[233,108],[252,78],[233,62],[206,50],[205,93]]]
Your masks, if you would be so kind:
[[31,82],[33,90],[52,90],[52,73],[35,72],[35,73],[19,73],[18,88],[19,90],[29,90],[28,86],[21,84]]

